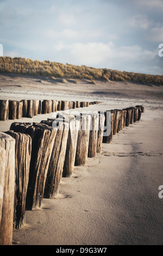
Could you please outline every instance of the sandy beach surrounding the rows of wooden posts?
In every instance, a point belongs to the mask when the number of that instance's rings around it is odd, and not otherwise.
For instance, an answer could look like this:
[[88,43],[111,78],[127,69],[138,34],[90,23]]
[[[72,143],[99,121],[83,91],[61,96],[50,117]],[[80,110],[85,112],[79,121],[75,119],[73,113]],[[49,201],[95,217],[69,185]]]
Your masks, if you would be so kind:
[[[41,82],[40,82],[41,80]],[[143,105],[141,120],[115,135],[102,152],[62,178],[57,198],[26,211],[26,225],[14,230],[18,245],[162,245],[163,87],[0,75],[0,99],[101,101],[76,111],[106,111]],[[70,110],[72,113],[74,109]],[[0,121],[39,122],[53,114]]]

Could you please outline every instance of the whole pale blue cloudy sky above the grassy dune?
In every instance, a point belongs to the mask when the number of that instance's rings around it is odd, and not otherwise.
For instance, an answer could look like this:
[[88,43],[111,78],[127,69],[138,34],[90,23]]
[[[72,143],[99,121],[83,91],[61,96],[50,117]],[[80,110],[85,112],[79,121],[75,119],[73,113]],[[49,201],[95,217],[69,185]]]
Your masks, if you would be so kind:
[[163,75],[163,0],[0,0],[0,55]]

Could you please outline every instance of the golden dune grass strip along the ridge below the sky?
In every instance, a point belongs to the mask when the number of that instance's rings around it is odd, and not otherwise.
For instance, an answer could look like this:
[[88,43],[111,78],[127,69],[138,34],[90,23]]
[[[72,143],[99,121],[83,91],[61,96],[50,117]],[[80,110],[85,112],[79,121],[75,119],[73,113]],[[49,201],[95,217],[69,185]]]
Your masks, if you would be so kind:
[[85,65],[76,66],[71,64],[61,64],[44,60],[0,57],[0,72],[1,73],[16,73],[23,75],[45,76],[51,77],[53,80],[56,77],[61,78],[84,78],[95,83],[95,80],[104,81],[131,81],[143,84],[163,85],[163,76],[147,75],[141,73],[118,71],[112,69],[96,69]]

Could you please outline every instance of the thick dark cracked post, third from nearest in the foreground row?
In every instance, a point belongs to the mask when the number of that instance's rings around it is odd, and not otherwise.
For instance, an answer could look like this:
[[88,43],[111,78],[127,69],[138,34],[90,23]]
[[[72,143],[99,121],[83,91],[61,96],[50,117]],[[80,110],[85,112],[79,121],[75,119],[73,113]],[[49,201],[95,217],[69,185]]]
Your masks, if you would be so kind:
[[[23,125],[15,125],[14,131],[22,130]],[[29,169],[29,182],[26,197],[26,210],[41,207],[45,181],[51,160],[57,129],[45,124],[24,123],[24,131],[32,137],[32,153]],[[13,127],[13,126],[12,126]]]

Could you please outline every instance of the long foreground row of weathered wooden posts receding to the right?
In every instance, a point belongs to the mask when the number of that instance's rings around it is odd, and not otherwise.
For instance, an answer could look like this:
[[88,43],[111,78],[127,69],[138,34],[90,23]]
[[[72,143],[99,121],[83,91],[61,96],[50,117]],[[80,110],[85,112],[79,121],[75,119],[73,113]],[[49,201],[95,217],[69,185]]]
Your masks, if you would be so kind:
[[12,244],[12,230],[23,227],[26,210],[57,196],[62,176],[71,176],[74,166],[96,157],[102,143],[111,143],[143,111],[136,106],[92,114],[60,112],[41,123],[12,123],[9,131],[1,132],[0,245]]

